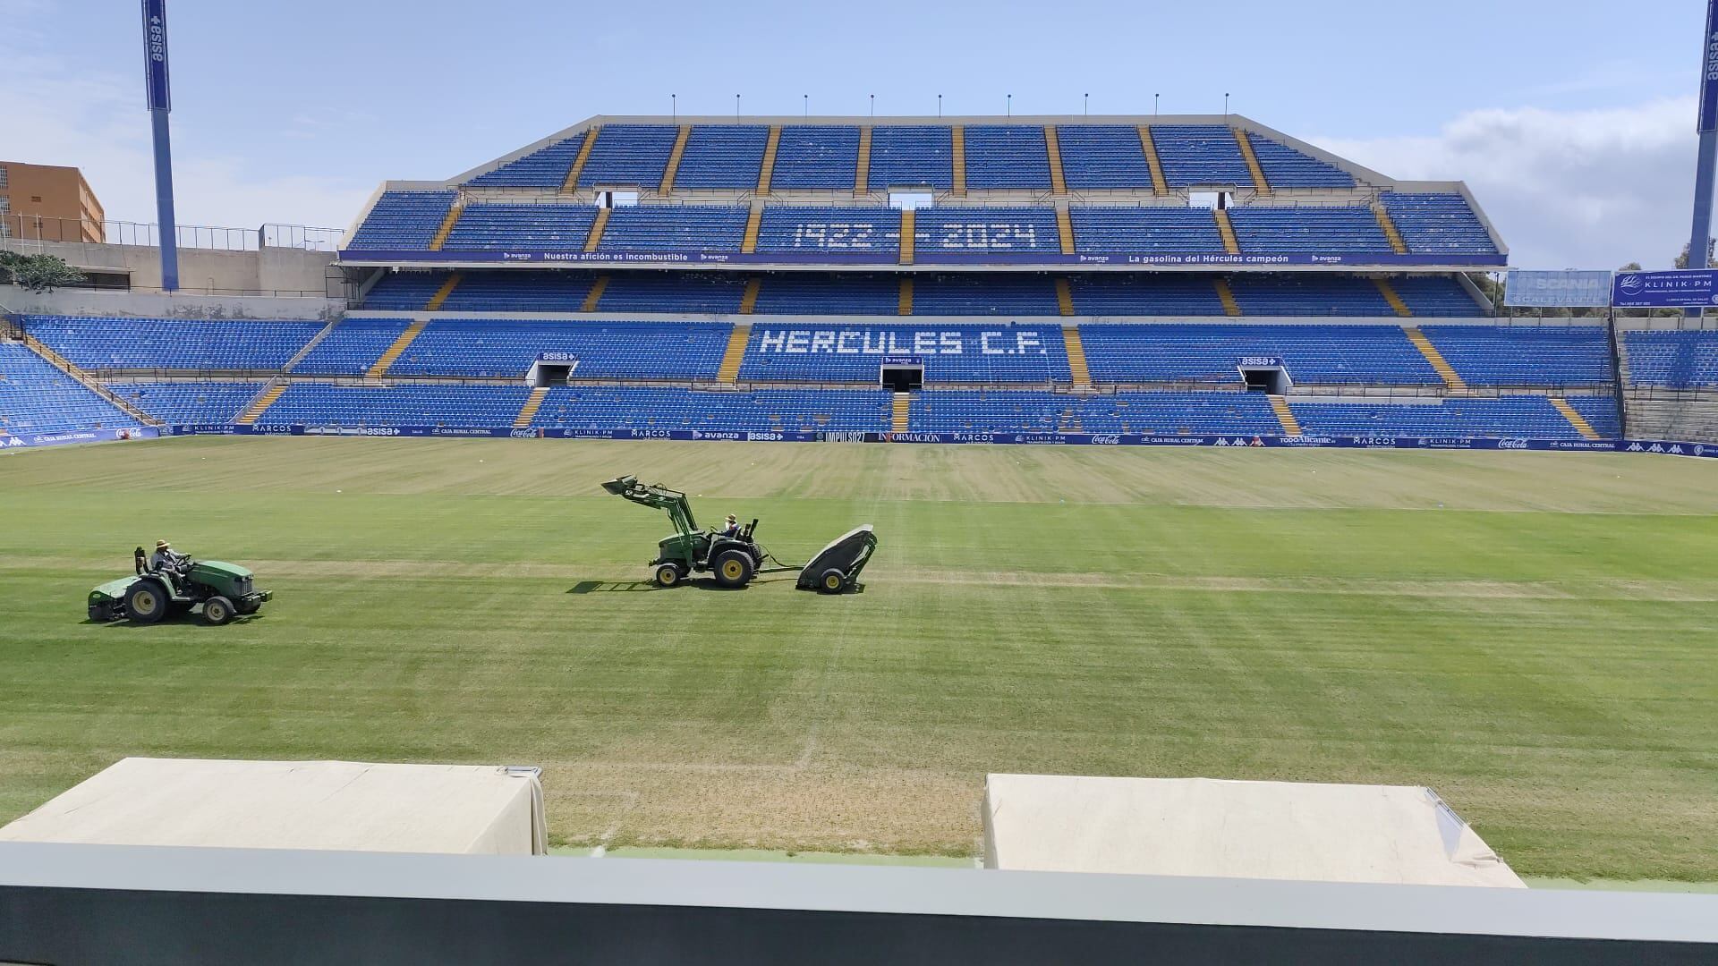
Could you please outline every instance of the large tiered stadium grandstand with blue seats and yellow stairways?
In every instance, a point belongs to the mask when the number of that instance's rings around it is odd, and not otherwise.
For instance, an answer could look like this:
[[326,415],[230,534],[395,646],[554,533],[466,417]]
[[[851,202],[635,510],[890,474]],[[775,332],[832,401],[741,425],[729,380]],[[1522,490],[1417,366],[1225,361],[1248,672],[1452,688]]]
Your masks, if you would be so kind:
[[1496,318],[1507,251],[1460,182],[1240,115],[593,117],[383,184],[338,318],[14,316],[0,431],[1608,440],[1624,354],[1718,378]]

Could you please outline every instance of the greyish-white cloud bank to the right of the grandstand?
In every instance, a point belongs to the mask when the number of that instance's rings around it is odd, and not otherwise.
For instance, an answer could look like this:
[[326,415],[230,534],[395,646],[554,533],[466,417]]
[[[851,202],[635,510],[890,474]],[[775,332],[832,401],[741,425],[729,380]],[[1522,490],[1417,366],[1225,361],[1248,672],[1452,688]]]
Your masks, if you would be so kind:
[[1668,268],[1687,244],[1692,98],[1474,110],[1431,136],[1309,141],[1390,177],[1465,180],[1522,268]]

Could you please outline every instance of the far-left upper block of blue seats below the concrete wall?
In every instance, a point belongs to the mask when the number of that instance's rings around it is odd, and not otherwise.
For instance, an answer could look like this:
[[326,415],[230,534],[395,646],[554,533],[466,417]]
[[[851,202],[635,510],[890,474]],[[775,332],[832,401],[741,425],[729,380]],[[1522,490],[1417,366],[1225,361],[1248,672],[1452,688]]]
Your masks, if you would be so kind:
[[86,370],[278,370],[323,321],[24,316],[24,330]]

